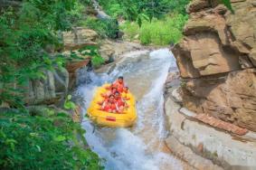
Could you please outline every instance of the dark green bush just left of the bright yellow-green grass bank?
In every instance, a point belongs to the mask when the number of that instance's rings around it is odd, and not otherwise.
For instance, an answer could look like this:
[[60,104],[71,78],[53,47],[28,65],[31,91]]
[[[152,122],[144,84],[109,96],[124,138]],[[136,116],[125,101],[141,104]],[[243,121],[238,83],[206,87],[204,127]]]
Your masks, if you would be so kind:
[[81,22],[81,25],[86,26],[92,30],[95,30],[101,37],[117,38],[119,33],[119,24],[116,19],[100,20],[94,17],[88,17],[85,21]]

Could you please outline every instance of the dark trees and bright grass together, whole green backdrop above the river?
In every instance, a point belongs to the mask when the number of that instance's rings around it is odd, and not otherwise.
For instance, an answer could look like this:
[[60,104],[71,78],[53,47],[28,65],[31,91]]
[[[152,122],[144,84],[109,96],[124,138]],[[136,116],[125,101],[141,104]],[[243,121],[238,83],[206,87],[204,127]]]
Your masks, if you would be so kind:
[[143,44],[166,45],[176,43],[182,37],[182,29],[187,20],[185,6],[189,0],[100,0],[99,2],[109,15],[126,20],[120,28],[129,40],[135,39],[138,35]]

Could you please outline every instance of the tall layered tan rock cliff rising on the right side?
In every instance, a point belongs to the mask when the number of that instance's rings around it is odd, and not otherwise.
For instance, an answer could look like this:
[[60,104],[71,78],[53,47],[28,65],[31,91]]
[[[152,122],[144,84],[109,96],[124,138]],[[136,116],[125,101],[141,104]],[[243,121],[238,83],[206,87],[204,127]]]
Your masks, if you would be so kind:
[[194,0],[173,50],[185,108],[256,131],[256,2]]

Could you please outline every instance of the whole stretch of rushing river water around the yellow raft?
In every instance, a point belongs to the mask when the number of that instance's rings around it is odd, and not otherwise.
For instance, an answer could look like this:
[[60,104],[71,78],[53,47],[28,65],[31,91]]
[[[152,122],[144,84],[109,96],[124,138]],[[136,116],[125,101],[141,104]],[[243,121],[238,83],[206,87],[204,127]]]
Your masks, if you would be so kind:
[[82,121],[88,144],[109,170],[183,169],[165,145],[163,88],[168,71],[176,70],[175,58],[168,49],[127,53],[111,73],[80,72],[77,93],[84,99],[86,112],[98,86],[118,76],[137,98],[137,123],[128,128],[97,127]]

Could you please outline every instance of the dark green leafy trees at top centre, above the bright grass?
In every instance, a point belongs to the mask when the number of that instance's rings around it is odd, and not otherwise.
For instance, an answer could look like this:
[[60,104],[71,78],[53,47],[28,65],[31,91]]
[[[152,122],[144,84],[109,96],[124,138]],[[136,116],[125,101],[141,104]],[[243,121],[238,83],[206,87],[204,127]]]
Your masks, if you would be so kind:
[[142,15],[148,19],[161,18],[168,13],[185,14],[189,0],[100,0],[100,5],[113,17],[122,17],[128,21],[141,24]]

